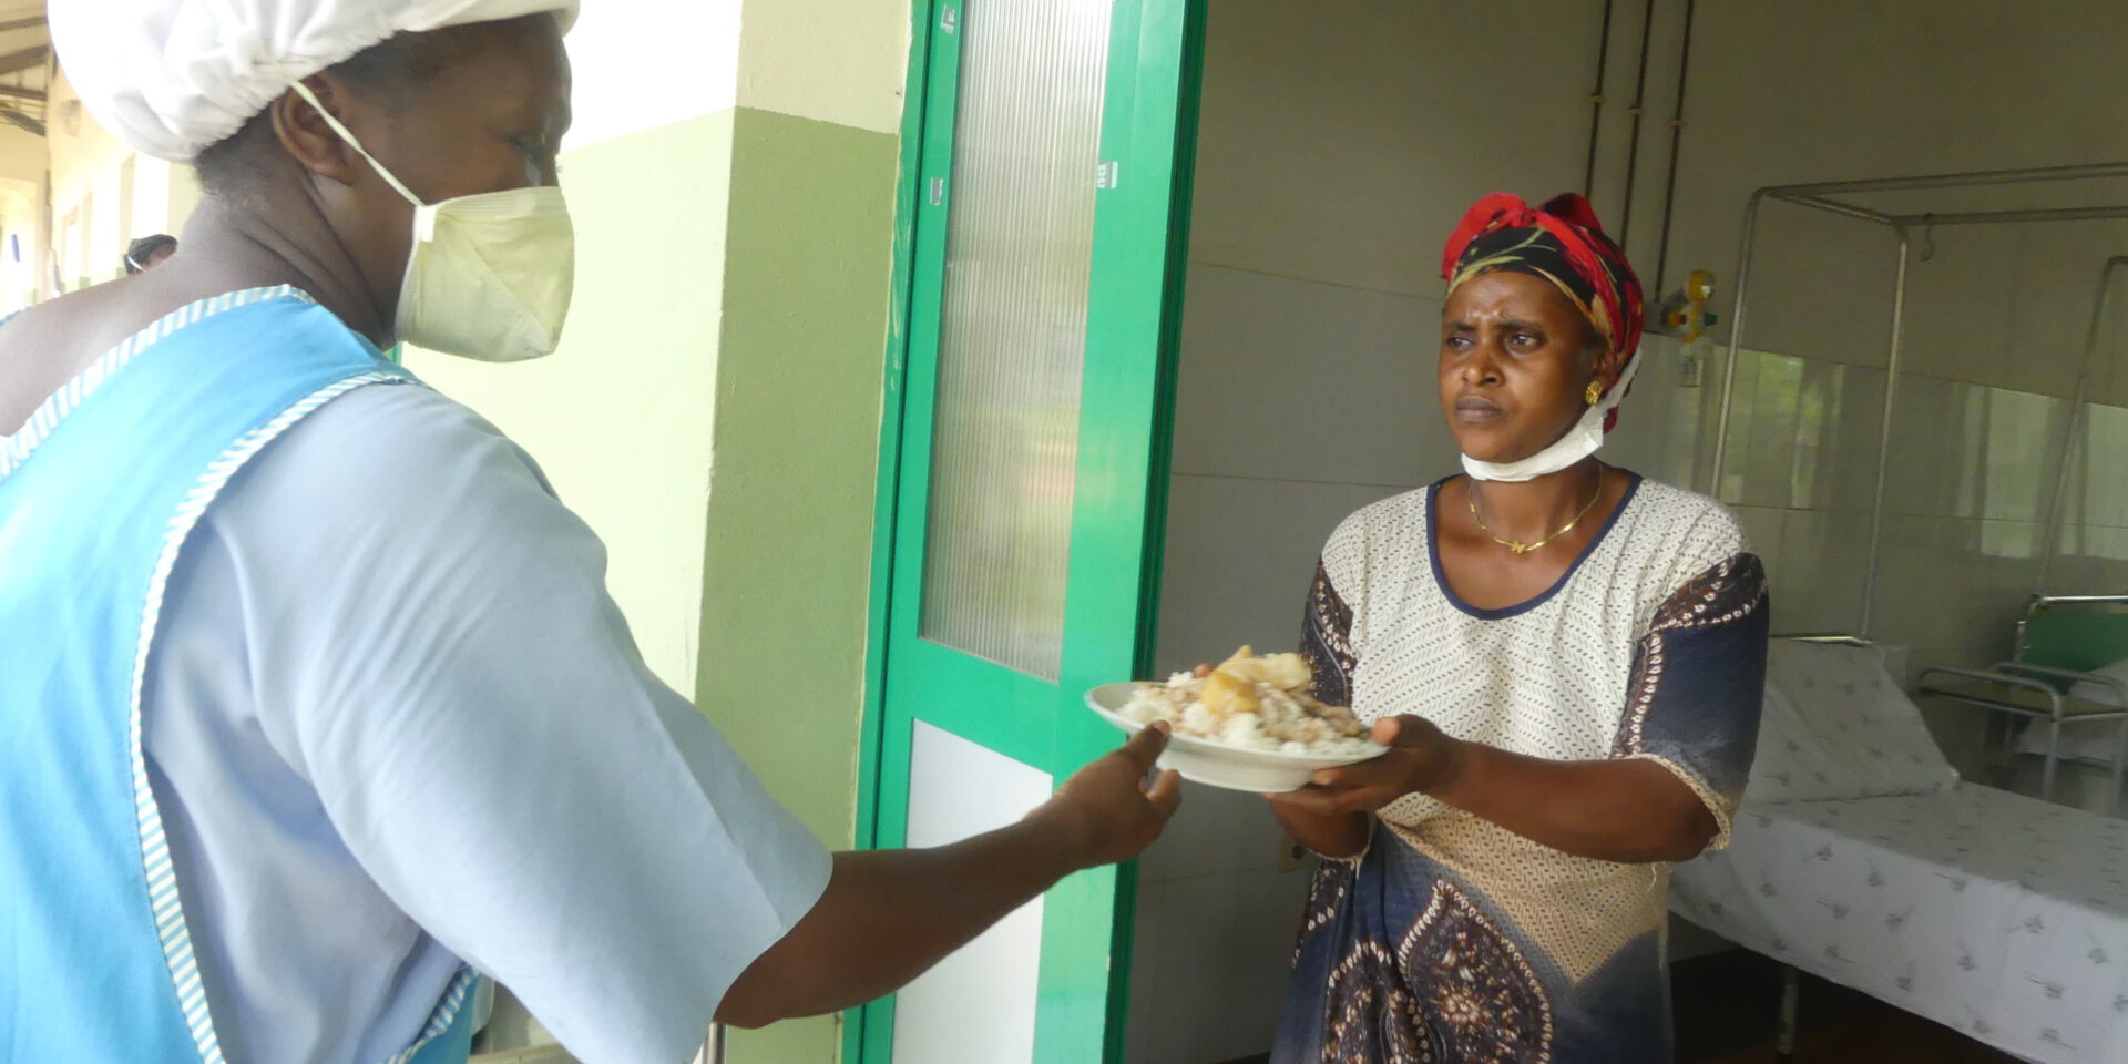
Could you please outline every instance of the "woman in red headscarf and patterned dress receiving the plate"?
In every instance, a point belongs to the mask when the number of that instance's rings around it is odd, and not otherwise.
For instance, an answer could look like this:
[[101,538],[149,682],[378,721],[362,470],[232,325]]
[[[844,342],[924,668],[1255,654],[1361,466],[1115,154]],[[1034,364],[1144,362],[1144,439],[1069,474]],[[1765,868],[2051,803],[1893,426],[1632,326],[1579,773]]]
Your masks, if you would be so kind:
[[1309,598],[1315,694],[1392,749],[1273,796],[1326,858],[1273,1062],[1664,1062],[1668,866],[1728,838],[1764,575],[1594,458],[1643,309],[1585,200],[1479,200],[1443,277],[1464,475],[1347,517]]

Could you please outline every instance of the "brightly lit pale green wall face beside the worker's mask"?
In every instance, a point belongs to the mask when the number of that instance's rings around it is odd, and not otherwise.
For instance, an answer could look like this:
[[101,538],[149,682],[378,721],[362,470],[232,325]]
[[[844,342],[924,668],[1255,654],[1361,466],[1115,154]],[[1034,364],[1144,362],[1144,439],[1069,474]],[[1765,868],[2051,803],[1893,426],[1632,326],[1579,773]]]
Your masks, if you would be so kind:
[[521,364],[406,362],[538,460],[606,543],[643,658],[696,685],[732,113],[572,149],[577,298],[562,349]]

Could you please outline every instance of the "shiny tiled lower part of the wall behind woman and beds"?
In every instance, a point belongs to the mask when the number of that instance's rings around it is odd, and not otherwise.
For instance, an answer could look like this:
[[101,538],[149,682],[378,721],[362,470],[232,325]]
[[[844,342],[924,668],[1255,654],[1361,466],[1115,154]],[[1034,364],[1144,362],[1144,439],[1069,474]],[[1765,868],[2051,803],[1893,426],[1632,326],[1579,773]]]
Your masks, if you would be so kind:
[[[1424,296],[1192,268],[1162,670],[1243,643],[1292,647],[1330,530],[1453,472],[1432,392],[1436,319]],[[1605,458],[1702,483],[1722,351],[1658,336],[1643,358]],[[1881,415],[1881,368],[1739,358],[1724,496],[1766,560],[1779,630],[1860,624]],[[2060,398],[1900,377],[1875,634],[1909,647],[1913,668],[2005,653],[2066,426]],[[2128,409],[2094,406],[2085,438],[2098,462],[2075,479],[2051,589],[2128,592]],[[1971,747],[1977,721],[1930,715],[1947,747]],[[1262,1051],[1307,892],[1304,872],[1273,870],[1279,832],[1260,798],[1187,798],[1143,870],[1132,1064]]]

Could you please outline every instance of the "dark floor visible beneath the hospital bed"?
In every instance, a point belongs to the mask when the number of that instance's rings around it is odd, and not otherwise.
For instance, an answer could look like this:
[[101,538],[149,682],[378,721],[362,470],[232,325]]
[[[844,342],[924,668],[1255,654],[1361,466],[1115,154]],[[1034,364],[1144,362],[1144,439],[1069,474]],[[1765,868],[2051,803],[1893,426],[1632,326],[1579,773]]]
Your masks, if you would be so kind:
[[[1781,968],[1743,949],[1673,968],[1677,1064],[1773,1064]],[[1956,1030],[1802,977],[1796,1064],[2015,1064]],[[1243,1058],[1228,1064],[1266,1064]]]

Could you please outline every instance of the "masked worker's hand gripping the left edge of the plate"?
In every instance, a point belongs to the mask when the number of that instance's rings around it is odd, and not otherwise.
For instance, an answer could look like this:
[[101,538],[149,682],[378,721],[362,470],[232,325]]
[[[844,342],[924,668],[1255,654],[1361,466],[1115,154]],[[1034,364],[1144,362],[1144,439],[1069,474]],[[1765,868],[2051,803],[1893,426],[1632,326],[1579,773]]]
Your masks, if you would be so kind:
[[1073,772],[1030,821],[1053,826],[1073,868],[1126,862],[1153,845],[1181,804],[1181,777],[1173,770],[1147,783],[1147,772],[1168,745],[1168,726],[1153,724],[1119,749]]

